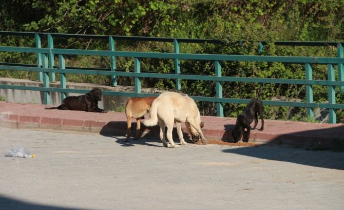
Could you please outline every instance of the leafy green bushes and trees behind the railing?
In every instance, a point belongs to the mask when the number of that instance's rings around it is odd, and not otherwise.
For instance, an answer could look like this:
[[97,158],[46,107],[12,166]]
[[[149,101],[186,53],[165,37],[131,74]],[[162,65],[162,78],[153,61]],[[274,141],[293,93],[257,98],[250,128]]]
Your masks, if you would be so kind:
[[[13,0],[4,1],[0,12],[3,31],[29,31],[68,34],[149,36],[172,38],[220,39],[221,45],[186,44],[180,45],[182,53],[266,55],[266,56],[312,56],[337,57],[335,46],[290,47],[275,46],[274,41],[344,41],[344,0]],[[238,40],[244,40],[239,44]],[[262,53],[258,53],[258,41],[264,40]],[[42,46],[47,46],[43,40]],[[35,46],[28,37],[2,36],[1,46]],[[109,49],[106,41],[82,39],[56,39],[56,48]],[[172,43],[117,41],[117,50],[173,52]],[[57,58],[56,58],[57,59]],[[34,64],[35,55],[0,53],[1,62]],[[67,66],[110,68],[109,58],[74,57],[66,59]],[[133,69],[132,58],[119,57],[117,68]],[[57,63],[57,61],[56,61]],[[300,64],[266,62],[222,62],[222,76],[293,78],[304,79],[305,67]],[[141,71],[159,73],[174,72],[173,60],[142,59]],[[314,79],[326,79],[325,65],[315,65]],[[182,73],[214,75],[214,63],[207,61],[181,61]],[[37,79],[36,73],[0,71],[0,76]],[[338,76],[338,71],[336,71]],[[58,79],[58,76],[57,76]],[[68,81],[90,82],[111,85],[108,76],[67,75]],[[119,85],[133,85],[133,78],[119,77]],[[144,87],[175,89],[171,79],[143,79]],[[214,96],[215,85],[210,81],[181,80],[182,92],[190,95]],[[327,87],[314,86],[314,101],[327,100]],[[302,99],[306,89],[303,85],[223,83],[224,97],[230,98],[271,98],[283,100]],[[337,102],[343,103],[339,95]],[[213,103],[200,102],[204,115],[215,115]],[[236,116],[245,105],[225,104],[226,116]],[[290,108],[266,106],[266,117],[290,119]],[[306,120],[305,109],[291,116],[292,119]],[[344,114],[337,111],[337,121],[344,122]]]

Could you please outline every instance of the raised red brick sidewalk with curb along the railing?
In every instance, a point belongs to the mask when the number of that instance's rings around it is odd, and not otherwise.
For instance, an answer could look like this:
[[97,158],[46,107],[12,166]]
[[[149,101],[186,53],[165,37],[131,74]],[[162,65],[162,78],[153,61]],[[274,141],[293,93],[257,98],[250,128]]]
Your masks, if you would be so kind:
[[[52,129],[92,132],[106,135],[125,134],[124,113],[87,113],[82,111],[46,110],[48,105],[0,101],[0,127],[18,129]],[[207,139],[230,141],[235,118],[202,116]],[[132,130],[136,123],[133,119]],[[257,128],[260,128],[260,120]],[[146,128],[141,125],[141,131]],[[158,137],[158,127],[146,129],[147,136]],[[185,126],[183,125],[185,132]],[[133,132],[134,135],[134,132]],[[344,141],[344,124],[322,124],[295,121],[265,120],[264,131],[251,131],[250,142],[295,145],[330,145]]]

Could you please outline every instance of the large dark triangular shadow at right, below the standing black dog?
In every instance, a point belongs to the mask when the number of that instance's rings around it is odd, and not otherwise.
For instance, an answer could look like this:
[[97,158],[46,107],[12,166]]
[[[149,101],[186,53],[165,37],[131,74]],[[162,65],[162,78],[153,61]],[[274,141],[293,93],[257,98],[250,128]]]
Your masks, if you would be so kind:
[[[225,125],[224,138],[231,138],[234,125]],[[297,138],[300,144],[290,145],[291,138]],[[295,143],[295,139],[293,140]],[[279,147],[276,150],[276,147]],[[286,146],[284,146],[286,145]],[[344,126],[315,129],[303,132],[281,134],[258,147],[237,147],[224,149],[224,153],[234,153],[261,159],[283,161],[313,167],[344,170]],[[341,152],[335,152],[340,150]],[[316,153],[317,156],[314,158]],[[335,159],[333,159],[335,157]]]

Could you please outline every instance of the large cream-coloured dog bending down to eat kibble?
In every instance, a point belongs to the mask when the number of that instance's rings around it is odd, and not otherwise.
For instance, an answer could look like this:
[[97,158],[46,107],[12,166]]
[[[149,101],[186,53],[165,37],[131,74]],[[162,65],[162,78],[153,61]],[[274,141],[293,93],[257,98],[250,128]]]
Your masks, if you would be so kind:
[[143,124],[145,126],[154,126],[159,124],[160,126],[160,139],[164,144],[164,147],[168,147],[165,140],[165,127],[167,127],[167,139],[169,140],[172,148],[178,148],[172,139],[173,123],[175,122],[177,127],[177,134],[181,145],[185,145],[186,142],[183,138],[181,129],[181,122],[185,122],[187,130],[193,136],[200,137],[203,144],[207,144],[202,133],[203,122],[201,122],[201,116],[195,101],[187,95],[180,95],[178,93],[168,92],[159,95],[152,103],[150,109],[151,118],[145,120]]

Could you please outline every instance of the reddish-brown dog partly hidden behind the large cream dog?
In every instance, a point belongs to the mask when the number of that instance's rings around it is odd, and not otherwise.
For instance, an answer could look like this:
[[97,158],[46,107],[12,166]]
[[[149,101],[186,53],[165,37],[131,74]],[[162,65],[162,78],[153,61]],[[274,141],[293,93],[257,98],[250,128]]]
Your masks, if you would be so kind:
[[127,139],[129,140],[132,118],[136,119],[136,135],[134,140],[138,140],[140,137],[141,119],[145,118],[145,114],[151,108],[152,102],[156,97],[133,97],[129,98],[125,105],[125,115],[127,116]]

